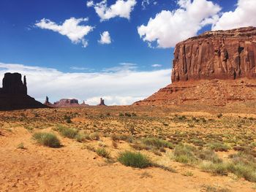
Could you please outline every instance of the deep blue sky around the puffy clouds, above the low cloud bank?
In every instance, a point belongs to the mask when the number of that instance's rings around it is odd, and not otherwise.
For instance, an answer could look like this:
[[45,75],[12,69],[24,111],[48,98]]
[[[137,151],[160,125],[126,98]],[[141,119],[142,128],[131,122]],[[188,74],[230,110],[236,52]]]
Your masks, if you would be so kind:
[[[115,2],[108,1],[108,4]],[[217,3],[232,10],[236,1],[219,0]],[[140,70],[152,70],[151,65],[154,64],[170,68],[173,49],[148,47],[140,39],[137,27],[147,23],[162,9],[176,8],[175,1],[162,0],[143,9],[141,1],[138,1],[129,20],[116,17],[100,22],[94,9],[86,7],[84,0],[1,0],[0,61],[54,67],[64,72],[72,71],[72,66],[101,70],[119,63],[138,64]],[[89,40],[86,48],[72,44],[67,37],[56,32],[34,27],[34,23],[42,18],[62,23],[72,17],[89,18],[86,24],[95,26],[86,37]],[[111,45],[99,45],[97,42],[102,31],[110,32]]]

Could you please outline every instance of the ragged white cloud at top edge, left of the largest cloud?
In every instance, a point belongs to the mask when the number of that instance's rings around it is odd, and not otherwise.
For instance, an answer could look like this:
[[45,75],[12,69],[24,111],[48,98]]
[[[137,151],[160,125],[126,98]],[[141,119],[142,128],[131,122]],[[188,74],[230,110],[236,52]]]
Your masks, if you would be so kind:
[[93,1],[87,1],[87,7],[94,7],[101,21],[116,17],[127,18],[129,20],[130,13],[136,3],[136,0],[117,0],[115,4],[108,7],[107,0],[103,0],[97,4],[94,4]]

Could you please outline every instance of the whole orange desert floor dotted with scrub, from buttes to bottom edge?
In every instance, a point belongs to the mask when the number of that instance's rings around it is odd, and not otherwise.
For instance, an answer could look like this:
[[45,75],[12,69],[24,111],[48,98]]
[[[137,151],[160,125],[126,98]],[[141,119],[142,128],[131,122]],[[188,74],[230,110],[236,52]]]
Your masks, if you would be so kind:
[[[0,191],[256,191],[255,147],[255,103],[0,112]],[[127,150],[153,163],[125,166]]]

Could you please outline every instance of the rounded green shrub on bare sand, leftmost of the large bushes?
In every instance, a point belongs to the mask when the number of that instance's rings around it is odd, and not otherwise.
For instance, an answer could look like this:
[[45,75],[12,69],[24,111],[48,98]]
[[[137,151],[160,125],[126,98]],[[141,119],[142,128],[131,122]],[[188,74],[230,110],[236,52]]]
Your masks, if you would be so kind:
[[32,138],[41,145],[54,148],[61,147],[61,143],[58,137],[56,137],[56,135],[52,133],[35,133],[33,134]]

